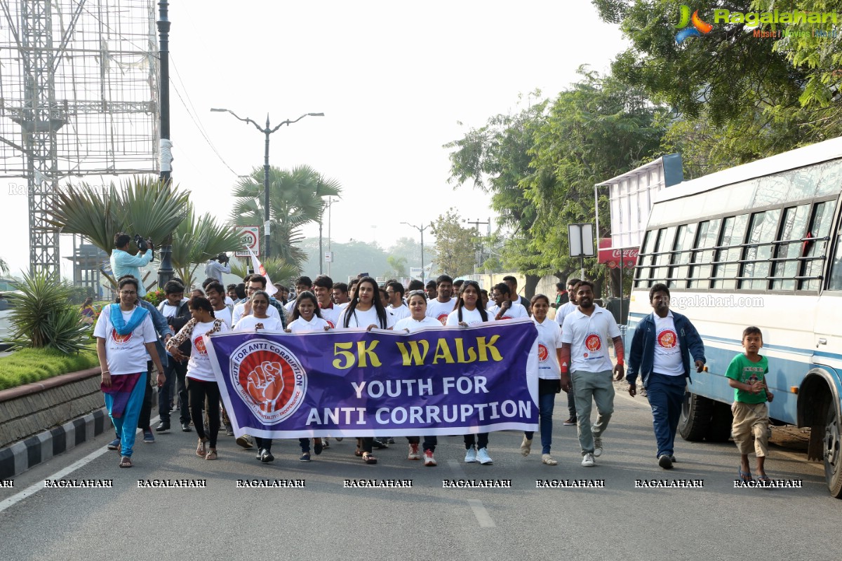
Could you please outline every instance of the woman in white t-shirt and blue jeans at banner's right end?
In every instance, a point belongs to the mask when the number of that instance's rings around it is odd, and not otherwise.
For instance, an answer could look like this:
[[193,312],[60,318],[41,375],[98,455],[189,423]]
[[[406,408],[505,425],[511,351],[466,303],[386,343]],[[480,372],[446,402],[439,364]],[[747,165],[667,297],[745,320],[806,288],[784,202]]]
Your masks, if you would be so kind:
[[[530,301],[532,321],[538,330],[538,415],[541,429],[541,463],[554,466],[557,461],[550,455],[552,446],[552,410],[556,405],[556,394],[562,391],[562,328],[548,320],[550,299],[536,294]],[[528,456],[532,446],[532,431],[524,432],[520,453]]]

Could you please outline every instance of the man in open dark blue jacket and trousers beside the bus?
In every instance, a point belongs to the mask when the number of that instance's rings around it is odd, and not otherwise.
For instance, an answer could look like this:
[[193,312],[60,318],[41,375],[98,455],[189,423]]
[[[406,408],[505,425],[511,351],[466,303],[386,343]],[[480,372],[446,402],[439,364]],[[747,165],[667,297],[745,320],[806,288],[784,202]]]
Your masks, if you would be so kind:
[[637,324],[629,352],[629,395],[637,394],[637,373],[643,378],[652,406],[658,465],[671,469],[675,461],[675,430],[679,426],[681,403],[690,378],[690,356],[695,371],[705,367],[705,346],[699,332],[684,315],[669,310],[669,288],[655,284],[649,289],[653,313]]

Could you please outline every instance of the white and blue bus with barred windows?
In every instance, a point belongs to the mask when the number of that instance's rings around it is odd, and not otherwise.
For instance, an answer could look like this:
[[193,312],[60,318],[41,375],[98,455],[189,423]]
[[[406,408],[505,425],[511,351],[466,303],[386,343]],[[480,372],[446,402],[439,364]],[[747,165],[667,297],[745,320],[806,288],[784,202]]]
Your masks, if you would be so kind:
[[822,460],[842,497],[842,138],[673,187],[656,198],[640,249],[628,336],[666,283],[671,308],[705,343],[692,373],[682,437],[725,442],[733,389],[725,371],[743,329],[763,331],[770,417],[811,428],[807,458]]

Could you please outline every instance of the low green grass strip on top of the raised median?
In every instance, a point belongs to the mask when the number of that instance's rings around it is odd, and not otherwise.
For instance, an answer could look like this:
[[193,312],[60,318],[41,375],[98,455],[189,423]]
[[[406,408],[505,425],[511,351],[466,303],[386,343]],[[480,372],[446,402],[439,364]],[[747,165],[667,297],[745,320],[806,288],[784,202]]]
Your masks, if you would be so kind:
[[0,357],[0,389],[15,388],[98,366],[97,354],[90,348],[72,354],[50,347],[21,349],[8,357]]

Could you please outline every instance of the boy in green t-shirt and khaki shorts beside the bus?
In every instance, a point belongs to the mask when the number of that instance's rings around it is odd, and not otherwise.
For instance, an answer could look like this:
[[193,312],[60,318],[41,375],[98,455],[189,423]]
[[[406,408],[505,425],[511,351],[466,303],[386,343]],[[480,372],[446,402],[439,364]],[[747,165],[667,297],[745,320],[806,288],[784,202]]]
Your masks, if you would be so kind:
[[734,414],[732,432],[734,443],[740,453],[739,477],[751,481],[749,453],[751,437],[754,432],[754,453],[757,455],[757,480],[768,482],[769,476],[763,469],[763,463],[769,454],[769,405],[774,397],[766,386],[766,374],[769,373],[769,361],[758,352],[763,347],[763,334],[757,327],[746,327],[743,331],[743,349],[745,354],[733,357],[725,376],[734,389]]

